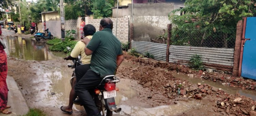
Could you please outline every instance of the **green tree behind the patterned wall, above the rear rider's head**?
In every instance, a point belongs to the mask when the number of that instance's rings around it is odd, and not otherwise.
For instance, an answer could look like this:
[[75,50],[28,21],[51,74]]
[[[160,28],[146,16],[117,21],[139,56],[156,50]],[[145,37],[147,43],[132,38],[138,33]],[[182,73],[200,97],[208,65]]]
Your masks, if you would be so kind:
[[114,6],[114,0],[94,0],[92,12],[94,18],[110,17],[112,14],[111,7]]

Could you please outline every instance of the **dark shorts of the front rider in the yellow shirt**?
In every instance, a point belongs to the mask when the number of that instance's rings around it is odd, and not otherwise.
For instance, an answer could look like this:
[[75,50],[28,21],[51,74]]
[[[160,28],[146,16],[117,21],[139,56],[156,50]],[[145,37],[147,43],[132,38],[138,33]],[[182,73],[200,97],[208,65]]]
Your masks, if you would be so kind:
[[90,69],[90,64],[79,65],[75,68],[76,82],[78,82]]

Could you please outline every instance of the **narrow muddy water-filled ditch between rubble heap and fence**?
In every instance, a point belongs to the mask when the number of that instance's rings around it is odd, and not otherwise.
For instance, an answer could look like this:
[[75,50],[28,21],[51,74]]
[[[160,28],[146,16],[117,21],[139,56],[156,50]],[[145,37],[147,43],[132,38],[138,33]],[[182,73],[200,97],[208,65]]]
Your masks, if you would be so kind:
[[206,80],[206,79],[201,79],[201,78],[194,78],[194,77],[190,77],[187,75],[182,75],[182,74],[177,74],[177,73],[173,73],[173,76],[175,78],[182,78],[185,79],[189,82],[192,83],[206,83],[209,84],[211,86],[214,86],[216,88],[221,88],[223,91],[227,92],[228,94],[236,94],[236,93],[240,93],[242,96],[246,96],[246,97],[251,97],[253,100],[256,100],[256,91],[254,90],[242,90],[241,88],[238,87],[232,87],[232,86],[225,86],[221,83],[217,83],[217,82],[213,82],[210,80]]

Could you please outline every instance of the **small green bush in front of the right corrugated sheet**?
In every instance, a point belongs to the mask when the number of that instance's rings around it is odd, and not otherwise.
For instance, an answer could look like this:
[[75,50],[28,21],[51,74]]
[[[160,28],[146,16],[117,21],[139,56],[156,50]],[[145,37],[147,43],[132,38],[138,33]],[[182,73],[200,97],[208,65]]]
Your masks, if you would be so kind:
[[195,54],[191,57],[190,65],[195,70],[203,70],[203,68],[204,68],[201,57],[197,54]]

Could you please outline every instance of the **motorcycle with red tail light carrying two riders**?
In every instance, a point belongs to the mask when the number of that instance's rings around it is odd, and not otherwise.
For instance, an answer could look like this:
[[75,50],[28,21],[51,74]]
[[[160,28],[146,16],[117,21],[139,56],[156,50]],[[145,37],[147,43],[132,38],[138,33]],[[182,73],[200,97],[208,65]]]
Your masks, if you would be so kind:
[[[72,51],[71,47],[67,47],[67,50]],[[71,69],[82,65],[81,56],[79,55],[76,59],[72,60],[72,62],[74,63],[73,65],[68,64],[68,67],[71,67]],[[73,71],[72,77],[70,79],[71,86],[73,85],[75,78],[75,72]],[[119,91],[119,88],[116,87],[117,82],[120,82],[120,79],[115,75],[105,76],[95,89],[89,90],[89,93],[94,99],[96,107],[99,109],[99,112],[101,112],[102,116],[105,116],[105,114],[106,116],[112,116],[113,111],[119,113],[122,110],[116,106],[114,99],[114,97],[116,97],[116,91]],[[79,104],[82,105],[82,103]]]

